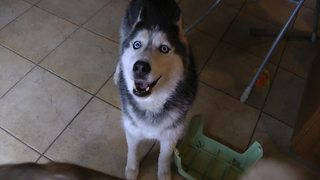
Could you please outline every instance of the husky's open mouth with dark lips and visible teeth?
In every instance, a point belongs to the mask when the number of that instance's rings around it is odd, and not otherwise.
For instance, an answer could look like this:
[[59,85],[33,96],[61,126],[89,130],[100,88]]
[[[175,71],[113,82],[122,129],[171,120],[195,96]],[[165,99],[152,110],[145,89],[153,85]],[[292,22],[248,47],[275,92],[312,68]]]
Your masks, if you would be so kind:
[[146,97],[151,94],[152,88],[158,83],[161,76],[153,82],[137,79],[134,81],[133,94],[138,97]]

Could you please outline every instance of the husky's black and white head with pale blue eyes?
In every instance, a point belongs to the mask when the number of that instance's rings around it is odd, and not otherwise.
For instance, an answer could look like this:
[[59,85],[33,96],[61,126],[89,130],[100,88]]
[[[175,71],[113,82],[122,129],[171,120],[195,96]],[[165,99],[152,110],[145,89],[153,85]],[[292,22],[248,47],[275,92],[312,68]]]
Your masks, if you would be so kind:
[[120,68],[137,100],[168,96],[184,77],[188,44],[174,0],[146,0],[122,33]]

